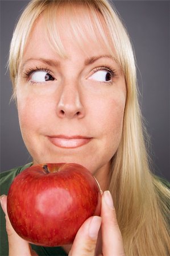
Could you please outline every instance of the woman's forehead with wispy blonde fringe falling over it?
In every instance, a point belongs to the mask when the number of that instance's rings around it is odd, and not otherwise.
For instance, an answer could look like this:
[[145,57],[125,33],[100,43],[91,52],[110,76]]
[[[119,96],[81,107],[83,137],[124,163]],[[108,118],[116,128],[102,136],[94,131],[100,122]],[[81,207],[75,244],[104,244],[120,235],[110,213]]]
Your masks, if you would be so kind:
[[[99,11],[85,6],[60,6],[44,11],[34,23],[24,51],[55,51],[61,57],[68,57],[68,49],[74,47],[85,54],[105,51],[113,55],[109,42],[108,28]],[[28,51],[29,50],[29,51]],[[115,54],[114,54],[115,55]]]

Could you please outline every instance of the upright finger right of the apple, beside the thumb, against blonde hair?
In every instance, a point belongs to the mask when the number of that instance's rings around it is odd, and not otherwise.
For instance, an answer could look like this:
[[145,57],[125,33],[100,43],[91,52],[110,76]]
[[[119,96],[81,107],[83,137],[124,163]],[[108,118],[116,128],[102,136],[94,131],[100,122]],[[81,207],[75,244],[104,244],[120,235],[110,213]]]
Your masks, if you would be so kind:
[[105,256],[125,256],[122,234],[118,226],[113,200],[109,191],[102,195],[102,251]]

